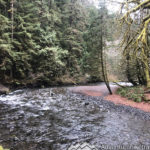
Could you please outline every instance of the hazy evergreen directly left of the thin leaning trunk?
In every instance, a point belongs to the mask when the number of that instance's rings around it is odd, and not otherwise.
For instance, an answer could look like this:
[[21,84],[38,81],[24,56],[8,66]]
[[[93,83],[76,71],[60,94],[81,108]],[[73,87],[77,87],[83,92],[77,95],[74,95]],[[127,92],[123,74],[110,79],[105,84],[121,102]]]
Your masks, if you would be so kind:
[[[104,12],[101,12],[104,11]],[[93,81],[99,81],[103,78],[101,66],[101,47],[105,45],[105,41],[101,41],[102,32],[107,32],[107,28],[102,23],[102,13],[107,15],[107,9],[94,10],[91,9],[89,15],[90,25],[84,35],[86,41],[86,51],[84,52],[83,68],[91,76]],[[103,28],[103,31],[102,31]],[[106,34],[103,35],[106,38]]]

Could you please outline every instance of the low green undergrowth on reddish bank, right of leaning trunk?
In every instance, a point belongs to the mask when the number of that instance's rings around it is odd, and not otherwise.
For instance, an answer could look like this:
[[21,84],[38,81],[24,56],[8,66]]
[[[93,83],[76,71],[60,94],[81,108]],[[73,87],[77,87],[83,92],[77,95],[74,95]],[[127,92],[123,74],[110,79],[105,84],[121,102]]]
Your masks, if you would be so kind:
[[142,102],[144,100],[144,87],[137,86],[119,88],[117,90],[117,94],[135,102]]

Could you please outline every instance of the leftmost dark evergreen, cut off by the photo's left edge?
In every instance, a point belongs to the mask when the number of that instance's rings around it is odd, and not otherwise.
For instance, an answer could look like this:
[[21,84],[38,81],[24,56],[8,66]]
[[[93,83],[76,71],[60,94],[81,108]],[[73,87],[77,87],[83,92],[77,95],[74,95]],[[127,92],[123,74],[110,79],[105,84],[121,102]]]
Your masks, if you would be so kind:
[[0,79],[5,82],[12,71],[11,30],[9,19],[2,14],[0,14],[0,22]]

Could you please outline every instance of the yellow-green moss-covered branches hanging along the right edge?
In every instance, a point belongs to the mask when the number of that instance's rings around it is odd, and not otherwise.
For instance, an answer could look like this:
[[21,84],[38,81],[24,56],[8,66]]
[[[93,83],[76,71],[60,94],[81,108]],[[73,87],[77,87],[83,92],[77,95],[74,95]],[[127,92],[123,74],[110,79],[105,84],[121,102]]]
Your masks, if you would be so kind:
[[[124,55],[130,56],[131,62],[133,60],[141,61],[147,87],[150,87],[148,55],[150,52],[148,41],[150,15],[143,10],[149,5],[150,0],[129,0],[124,6],[127,12],[121,18],[122,27],[126,26],[123,37]],[[134,18],[134,16],[138,16],[138,19]]]

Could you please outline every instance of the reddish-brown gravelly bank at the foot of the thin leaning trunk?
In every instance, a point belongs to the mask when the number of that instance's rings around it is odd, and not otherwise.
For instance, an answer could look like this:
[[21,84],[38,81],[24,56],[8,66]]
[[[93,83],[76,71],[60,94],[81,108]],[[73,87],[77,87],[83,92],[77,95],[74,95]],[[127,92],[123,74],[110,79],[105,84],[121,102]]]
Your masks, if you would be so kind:
[[138,108],[140,110],[143,110],[145,112],[150,112],[150,104],[146,102],[134,102],[132,100],[129,100],[127,98],[121,97],[120,95],[116,94],[118,86],[111,85],[111,89],[113,94],[109,95],[109,92],[105,86],[105,84],[100,84],[96,86],[78,86],[72,88],[73,92],[81,93],[88,96],[103,96],[105,100],[111,101],[116,105],[126,105],[131,106],[134,108]]

